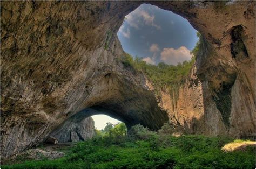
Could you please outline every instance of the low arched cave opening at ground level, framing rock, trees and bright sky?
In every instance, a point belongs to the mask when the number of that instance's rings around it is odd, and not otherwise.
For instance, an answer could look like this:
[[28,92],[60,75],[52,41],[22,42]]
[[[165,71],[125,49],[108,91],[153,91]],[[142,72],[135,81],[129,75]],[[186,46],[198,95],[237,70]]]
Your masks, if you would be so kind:
[[[86,108],[68,118],[53,130],[45,143],[70,143],[79,142],[100,135],[114,135],[122,133],[127,135],[127,128],[132,124],[125,121],[114,112],[100,106]],[[126,127],[127,126],[127,127]]]

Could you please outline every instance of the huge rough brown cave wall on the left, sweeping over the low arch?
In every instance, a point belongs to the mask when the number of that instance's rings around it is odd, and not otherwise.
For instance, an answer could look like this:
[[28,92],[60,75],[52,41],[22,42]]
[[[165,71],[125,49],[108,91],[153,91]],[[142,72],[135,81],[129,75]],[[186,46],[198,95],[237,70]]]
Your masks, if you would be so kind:
[[127,4],[2,3],[3,157],[42,143],[89,107],[155,130],[168,120],[144,76],[118,59],[116,33],[136,7]]

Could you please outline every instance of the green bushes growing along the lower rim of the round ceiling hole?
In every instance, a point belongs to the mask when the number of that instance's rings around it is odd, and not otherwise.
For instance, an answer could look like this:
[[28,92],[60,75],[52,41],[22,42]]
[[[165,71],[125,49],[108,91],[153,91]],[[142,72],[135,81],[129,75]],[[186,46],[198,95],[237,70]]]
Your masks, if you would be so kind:
[[179,86],[183,85],[183,83],[186,81],[186,78],[196,60],[195,56],[198,54],[202,41],[199,32],[197,33],[197,36],[199,41],[191,51],[191,54],[193,55],[191,60],[184,61],[176,66],[167,65],[163,62],[160,62],[158,65],[147,64],[142,60],[142,58],[135,57],[135,59],[133,59],[133,57],[128,53],[120,57],[120,61],[125,67],[132,67],[137,71],[142,71],[147,78],[153,82],[154,87],[159,87],[161,89],[168,88],[174,91],[174,89],[179,88]]

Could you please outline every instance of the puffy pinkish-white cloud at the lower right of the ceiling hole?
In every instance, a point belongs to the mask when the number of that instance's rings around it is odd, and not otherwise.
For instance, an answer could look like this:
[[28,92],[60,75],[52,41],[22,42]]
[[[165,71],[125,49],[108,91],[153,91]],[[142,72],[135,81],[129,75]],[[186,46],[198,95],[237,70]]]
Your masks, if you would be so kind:
[[181,46],[177,49],[174,48],[164,48],[161,52],[161,58],[166,64],[177,65],[178,62],[183,62],[185,60],[191,60],[190,50],[185,46]]

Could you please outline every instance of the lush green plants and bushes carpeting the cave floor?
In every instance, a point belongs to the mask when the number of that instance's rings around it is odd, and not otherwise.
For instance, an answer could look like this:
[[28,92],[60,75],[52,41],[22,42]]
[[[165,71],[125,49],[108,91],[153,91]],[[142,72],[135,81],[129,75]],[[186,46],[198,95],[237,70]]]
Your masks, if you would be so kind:
[[[255,154],[244,151],[223,152],[232,142],[228,137],[181,136],[153,132],[142,125],[133,126],[126,136],[124,124],[114,126],[104,136],[79,142],[69,154],[56,160],[25,161],[2,168],[253,168]],[[118,128],[111,135],[111,130]],[[168,130],[165,125],[165,129]],[[117,133],[120,132],[120,135]],[[164,134],[163,134],[164,133]],[[119,139],[117,139],[117,137]],[[122,142],[120,141],[122,140]]]

